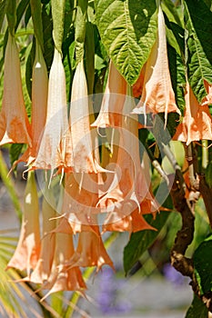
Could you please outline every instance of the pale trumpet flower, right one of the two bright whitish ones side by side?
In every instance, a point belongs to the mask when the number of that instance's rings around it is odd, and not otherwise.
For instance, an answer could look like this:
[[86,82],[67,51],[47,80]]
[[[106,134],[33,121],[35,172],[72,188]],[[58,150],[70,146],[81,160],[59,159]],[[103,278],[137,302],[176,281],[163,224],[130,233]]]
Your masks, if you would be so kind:
[[76,65],[71,94],[70,125],[73,143],[74,170],[76,173],[98,173],[104,171],[96,162],[92,132],[89,122],[84,61]]

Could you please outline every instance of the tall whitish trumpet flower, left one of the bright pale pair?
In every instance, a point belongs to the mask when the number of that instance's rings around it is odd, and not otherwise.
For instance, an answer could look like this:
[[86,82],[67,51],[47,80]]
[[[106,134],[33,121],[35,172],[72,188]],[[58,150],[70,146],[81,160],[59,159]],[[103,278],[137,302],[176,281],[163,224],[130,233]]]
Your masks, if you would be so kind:
[[66,75],[61,54],[55,49],[49,74],[45,130],[34,169],[62,170],[72,166],[71,135],[67,120]]

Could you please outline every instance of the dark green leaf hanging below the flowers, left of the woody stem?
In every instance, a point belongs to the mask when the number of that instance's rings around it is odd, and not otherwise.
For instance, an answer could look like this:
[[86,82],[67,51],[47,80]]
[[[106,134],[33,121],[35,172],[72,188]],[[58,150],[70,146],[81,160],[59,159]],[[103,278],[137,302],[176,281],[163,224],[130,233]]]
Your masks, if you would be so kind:
[[[167,184],[161,184],[159,193],[157,193],[158,201],[159,198],[164,197],[164,194],[167,193]],[[158,195],[159,194],[159,195]],[[169,209],[172,208],[171,197],[168,196],[166,202],[163,204],[164,207]],[[152,243],[156,240],[157,235],[160,233],[164,224],[167,222],[167,218],[170,212],[161,211],[159,214],[156,214],[156,218],[152,215],[144,215],[146,222],[156,228],[157,231],[144,230],[140,232],[133,233],[130,236],[129,242],[126,244],[124,249],[124,269],[126,274],[130,271],[133,265],[138,261],[141,255],[150,247]]]

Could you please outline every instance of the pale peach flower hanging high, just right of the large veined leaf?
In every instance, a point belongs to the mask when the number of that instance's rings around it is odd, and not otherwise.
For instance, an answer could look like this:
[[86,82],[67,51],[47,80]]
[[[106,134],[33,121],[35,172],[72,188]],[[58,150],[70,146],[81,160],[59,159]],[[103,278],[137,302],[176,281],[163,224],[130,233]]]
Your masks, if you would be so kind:
[[146,61],[144,87],[134,113],[165,113],[167,124],[167,113],[172,112],[179,114],[168,68],[166,25],[159,6],[156,43]]

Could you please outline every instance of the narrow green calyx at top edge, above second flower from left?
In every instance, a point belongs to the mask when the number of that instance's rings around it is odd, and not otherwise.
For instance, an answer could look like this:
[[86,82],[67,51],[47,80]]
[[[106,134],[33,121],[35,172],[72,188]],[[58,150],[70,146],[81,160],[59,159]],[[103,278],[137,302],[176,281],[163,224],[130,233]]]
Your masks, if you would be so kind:
[[44,36],[43,36],[43,23],[41,14],[41,1],[30,0],[30,7],[32,12],[32,19],[35,31],[35,37],[39,42],[42,50],[44,50]]

